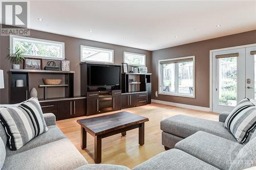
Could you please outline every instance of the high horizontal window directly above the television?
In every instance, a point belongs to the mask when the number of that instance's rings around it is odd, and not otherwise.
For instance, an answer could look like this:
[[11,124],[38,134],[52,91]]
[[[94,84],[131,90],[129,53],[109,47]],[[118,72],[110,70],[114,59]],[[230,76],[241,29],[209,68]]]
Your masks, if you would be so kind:
[[114,50],[81,45],[81,62],[114,63]]

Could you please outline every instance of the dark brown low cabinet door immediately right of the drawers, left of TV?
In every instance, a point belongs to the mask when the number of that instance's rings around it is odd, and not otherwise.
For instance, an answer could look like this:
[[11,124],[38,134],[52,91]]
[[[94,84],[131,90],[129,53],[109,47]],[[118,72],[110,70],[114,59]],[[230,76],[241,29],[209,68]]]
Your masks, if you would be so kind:
[[58,102],[58,120],[73,117],[73,101],[59,101]]

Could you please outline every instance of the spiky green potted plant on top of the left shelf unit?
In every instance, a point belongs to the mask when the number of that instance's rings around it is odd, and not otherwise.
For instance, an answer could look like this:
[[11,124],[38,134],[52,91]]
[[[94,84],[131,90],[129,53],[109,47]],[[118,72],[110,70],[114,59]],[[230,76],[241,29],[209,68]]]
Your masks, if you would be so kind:
[[20,69],[19,64],[26,59],[25,52],[22,50],[22,48],[16,48],[15,53],[11,53],[8,55],[8,59],[13,63],[13,69]]

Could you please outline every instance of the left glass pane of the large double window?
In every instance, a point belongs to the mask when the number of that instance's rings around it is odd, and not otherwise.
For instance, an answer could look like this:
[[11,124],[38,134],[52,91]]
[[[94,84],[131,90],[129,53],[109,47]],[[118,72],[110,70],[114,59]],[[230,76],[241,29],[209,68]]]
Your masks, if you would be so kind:
[[175,92],[175,63],[162,64],[163,92]]

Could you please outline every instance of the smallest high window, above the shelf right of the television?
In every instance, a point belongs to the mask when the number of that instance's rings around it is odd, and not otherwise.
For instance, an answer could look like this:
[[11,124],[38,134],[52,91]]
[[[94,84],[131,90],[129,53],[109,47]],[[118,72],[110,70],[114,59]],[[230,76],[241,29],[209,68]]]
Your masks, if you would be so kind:
[[146,64],[146,55],[123,52],[123,62],[128,65],[143,65]]

